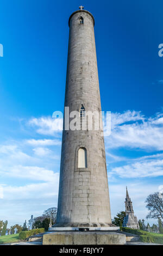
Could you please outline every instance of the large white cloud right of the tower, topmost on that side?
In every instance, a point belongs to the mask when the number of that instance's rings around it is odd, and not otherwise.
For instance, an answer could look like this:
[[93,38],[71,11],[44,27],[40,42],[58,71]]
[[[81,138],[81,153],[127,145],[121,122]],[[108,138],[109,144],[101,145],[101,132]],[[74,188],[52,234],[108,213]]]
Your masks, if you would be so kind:
[[140,112],[111,114],[111,135],[105,137],[106,148],[163,150],[163,114],[146,118]]

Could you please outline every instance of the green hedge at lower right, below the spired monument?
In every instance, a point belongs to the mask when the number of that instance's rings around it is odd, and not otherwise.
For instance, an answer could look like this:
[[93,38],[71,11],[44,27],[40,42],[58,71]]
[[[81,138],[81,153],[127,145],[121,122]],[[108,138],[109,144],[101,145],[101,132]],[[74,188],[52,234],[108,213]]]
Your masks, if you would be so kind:
[[163,245],[163,234],[151,233],[140,229],[122,228],[124,232],[139,235],[141,242],[160,243]]

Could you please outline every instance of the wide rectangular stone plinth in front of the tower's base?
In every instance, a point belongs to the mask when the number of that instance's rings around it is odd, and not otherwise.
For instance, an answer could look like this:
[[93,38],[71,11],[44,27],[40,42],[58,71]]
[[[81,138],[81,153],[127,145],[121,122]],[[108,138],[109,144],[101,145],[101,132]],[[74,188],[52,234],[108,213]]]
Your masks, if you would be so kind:
[[110,231],[56,231],[43,235],[42,245],[124,245],[126,235]]

